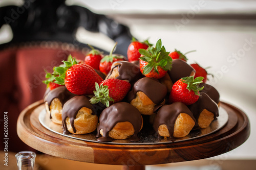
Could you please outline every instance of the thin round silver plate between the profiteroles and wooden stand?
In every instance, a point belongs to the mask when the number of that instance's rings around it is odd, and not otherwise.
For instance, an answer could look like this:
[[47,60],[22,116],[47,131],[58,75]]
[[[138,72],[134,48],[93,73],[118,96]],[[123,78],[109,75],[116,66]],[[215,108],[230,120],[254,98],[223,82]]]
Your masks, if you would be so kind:
[[[53,123],[45,109],[41,110],[38,118],[42,126],[59,135],[78,139],[78,140],[104,143],[104,142],[97,141],[97,138],[96,138],[97,131],[94,131],[89,134],[84,134],[84,135],[62,134],[61,125]],[[138,136],[140,137],[140,141],[138,142],[131,142],[127,139],[124,139],[124,140],[113,140],[111,142],[105,142],[105,143],[108,143],[108,144],[162,144],[162,143],[186,141],[186,140],[196,139],[196,138],[214,133],[220,130],[221,128],[223,128],[227,122],[228,122],[228,114],[224,108],[220,107],[219,117],[216,120],[212,121],[209,127],[205,129],[192,130],[187,136],[183,138],[170,138],[170,139],[158,138],[155,135],[155,131],[153,130],[153,128],[150,128],[150,129],[142,128],[142,130],[138,134]]]

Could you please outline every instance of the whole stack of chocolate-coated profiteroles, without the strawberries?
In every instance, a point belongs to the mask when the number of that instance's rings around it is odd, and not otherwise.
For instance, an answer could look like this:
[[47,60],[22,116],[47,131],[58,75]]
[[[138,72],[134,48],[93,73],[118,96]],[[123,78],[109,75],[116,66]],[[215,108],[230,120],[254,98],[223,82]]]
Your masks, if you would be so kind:
[[65,85],[48,89],[44,101],[52,122],[62,126],[63,134],[97,133],[100,142],[113,139],[137,142],[143,128],[154,129],[159,137],[182,138],[191,130],[207,128],[219,116],[220,95],[206,83],[199,84],[207,88],[199,91],[193,104],[170,100],[173,85],[196,74],[186,61],[172,59],[172,68],[158,79],[144,75],[139,61],[111,63],[105,80],[119,79],[129,82],[131,87],[121,101],[111,101],[110,106],[101,102],[92,104],[93,93],[74,94]]

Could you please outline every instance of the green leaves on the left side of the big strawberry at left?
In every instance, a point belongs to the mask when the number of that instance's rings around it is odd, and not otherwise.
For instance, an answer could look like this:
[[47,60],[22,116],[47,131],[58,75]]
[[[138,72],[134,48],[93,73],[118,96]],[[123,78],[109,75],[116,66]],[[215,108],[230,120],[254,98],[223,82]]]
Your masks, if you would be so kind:
[[55,80],[54,83],[59,85],[65,85],[66,71],[72,65],[77,64],[77,61],[71,55],[69,55],[68,61],[62,61],[62,62],[63,62],[62,65],[54,68],[55,73],[53,74],[54,80]]

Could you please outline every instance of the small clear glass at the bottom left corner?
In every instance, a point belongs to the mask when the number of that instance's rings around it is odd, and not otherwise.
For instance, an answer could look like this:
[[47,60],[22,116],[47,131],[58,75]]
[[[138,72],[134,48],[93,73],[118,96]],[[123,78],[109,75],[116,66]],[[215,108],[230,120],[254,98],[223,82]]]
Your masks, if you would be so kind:
[[31,151],[22,151],[15,155],[18,170],[33,170],[36,154]]

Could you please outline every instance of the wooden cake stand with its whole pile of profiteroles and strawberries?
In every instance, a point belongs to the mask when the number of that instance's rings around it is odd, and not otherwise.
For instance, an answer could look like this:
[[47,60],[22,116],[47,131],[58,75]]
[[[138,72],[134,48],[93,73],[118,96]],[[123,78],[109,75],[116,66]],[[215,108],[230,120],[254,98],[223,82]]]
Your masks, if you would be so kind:
[[69,56],[47,72],[44,99],[19,115],[20,139],[61,158],[144,169],[217,156],[249,137],[246,114],[221,102],[207,71],[166,52],[161,39],[134,40],[128,61],[113,50]]

